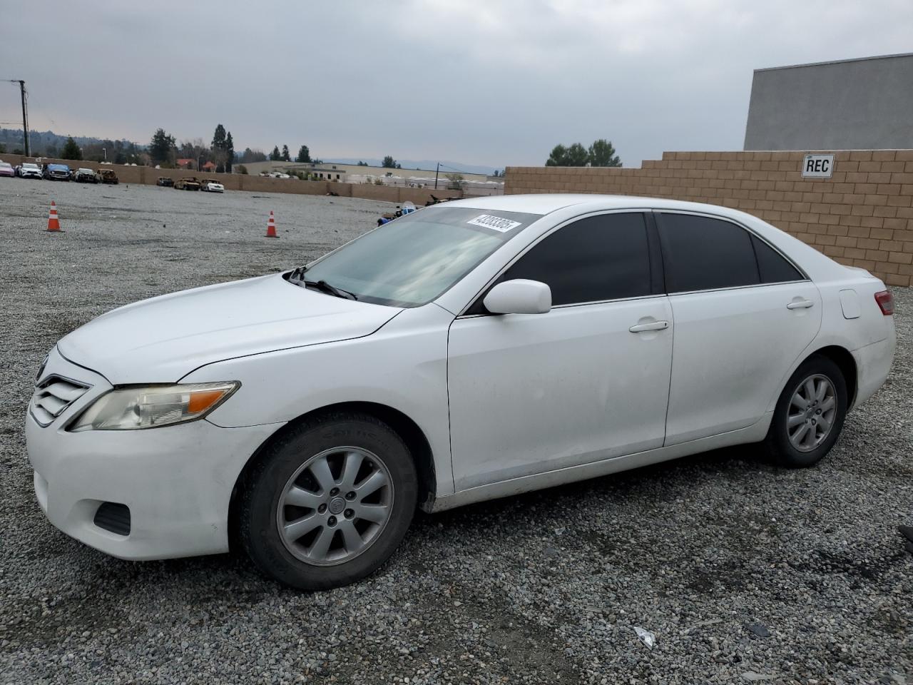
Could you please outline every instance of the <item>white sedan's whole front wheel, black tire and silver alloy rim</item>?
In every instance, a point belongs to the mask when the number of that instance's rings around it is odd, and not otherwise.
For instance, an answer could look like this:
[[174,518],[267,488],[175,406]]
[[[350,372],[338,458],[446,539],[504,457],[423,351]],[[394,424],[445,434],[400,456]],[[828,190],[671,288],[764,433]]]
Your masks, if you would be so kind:
[[366,414],[321,416],[291,427],[258,459],[241,491],[238,539],[280,583],[349,585],[393,555],[417,496],[412,455],[391,427]]

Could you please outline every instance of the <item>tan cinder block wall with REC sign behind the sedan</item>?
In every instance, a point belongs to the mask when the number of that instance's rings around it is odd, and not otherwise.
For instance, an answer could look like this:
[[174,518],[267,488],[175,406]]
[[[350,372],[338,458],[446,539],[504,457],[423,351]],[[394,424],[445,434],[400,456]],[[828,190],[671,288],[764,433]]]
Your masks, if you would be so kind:
[[835,154],[831,178],[803,178],[806,152],[664,153],[639,169],[509,166],[504,193],[645,195],[735,207],[888,285],[909,286],[913,150],[821,152]]

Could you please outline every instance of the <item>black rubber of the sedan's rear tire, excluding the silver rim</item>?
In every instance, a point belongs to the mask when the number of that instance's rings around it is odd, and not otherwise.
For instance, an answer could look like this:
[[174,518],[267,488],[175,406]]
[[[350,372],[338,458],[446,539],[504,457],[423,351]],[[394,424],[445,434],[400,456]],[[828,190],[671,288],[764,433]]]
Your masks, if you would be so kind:
[[[834,426],[831,432],[817,448],[810,452],[801,452],[792,446],[789,438],[789,431],[786,423],[789,415],[790,401],[792,394],[805,378],[811,375],[823,375],[834,385],[834,395],[837,400],[836,412],[834,414]],[[790,376],[777,401],[777,407],[773,412],[771,428],[768,434],[768,444],[771,448],[773,457],[782,466],[793,469],[813,466],[818,463],[824,456],[831,451],[840,432],[844,427],[846,411],[849,408],[848,396],[846,391],[846,381],[840,367],[827,357],[816,355],[803,362],[798,369]]]

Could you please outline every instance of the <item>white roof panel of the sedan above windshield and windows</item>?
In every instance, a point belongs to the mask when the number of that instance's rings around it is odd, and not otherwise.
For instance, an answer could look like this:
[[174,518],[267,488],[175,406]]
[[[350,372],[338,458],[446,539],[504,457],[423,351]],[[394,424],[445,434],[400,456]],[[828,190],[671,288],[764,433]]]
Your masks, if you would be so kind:
[[551,214],[564,207],[580,205],[582,212],[600,209],[678,209],[691,212],[708,212],[723,216],[744,216],[738,210],[719,205],[705,205],[698,202],[666,200],[660,197],[637,195],[593,195],[593,194],[541,194],[541,195],[490,195],[454,200],[436,206],[461,206],[473,209],[500,210],[503,212],[526,212],[528,214]]

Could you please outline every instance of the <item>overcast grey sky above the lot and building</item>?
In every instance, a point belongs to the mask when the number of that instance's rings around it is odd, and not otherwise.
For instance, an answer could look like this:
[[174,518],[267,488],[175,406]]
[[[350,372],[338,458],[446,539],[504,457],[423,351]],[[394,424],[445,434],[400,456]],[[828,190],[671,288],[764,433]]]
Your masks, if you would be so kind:
[[[31,129],[541,164],[740,150],[754,68],[913,51],[911,0],[0,0]],[[19,124],[16,124],[19,121]],[[21,127],[0,83],[0,126]]]

